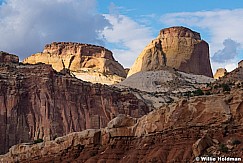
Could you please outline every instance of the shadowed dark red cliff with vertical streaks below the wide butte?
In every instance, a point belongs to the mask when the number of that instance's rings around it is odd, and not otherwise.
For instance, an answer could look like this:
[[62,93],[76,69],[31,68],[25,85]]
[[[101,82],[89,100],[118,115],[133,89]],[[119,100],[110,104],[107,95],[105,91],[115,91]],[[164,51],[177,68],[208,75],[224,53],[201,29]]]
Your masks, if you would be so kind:
[[7,53],[0,61],[0,154],[21,142],[105,127],[118,114],[149,112],[128,91],[81,81],[51,65],[18,63]]

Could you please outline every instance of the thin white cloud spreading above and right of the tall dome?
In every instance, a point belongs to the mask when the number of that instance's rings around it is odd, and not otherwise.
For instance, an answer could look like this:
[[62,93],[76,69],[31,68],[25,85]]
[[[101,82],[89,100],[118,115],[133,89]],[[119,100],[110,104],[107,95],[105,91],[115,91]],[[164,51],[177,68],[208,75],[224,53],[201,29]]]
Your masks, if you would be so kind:
[[[225,52],[226,49],[223,42],[228,38],[241,45],[237,46],[239,51],[243,50],[242,15],[243,9],[181,12],[163,15],[161,17],[161,21],[166,25],[184,25],[191,28],[196,27],[206,32],[210,37],[210,39],[206,41],[210,44],[210,53],[213,57],[215,54],[219,54],[216,52]],[[234,53],[234,51],[231,52]],[[227,53],[224,53],[223,55],[224,58],[227,57],[225,56]],[[228,67],[232,70],[232,65],[237,65],[235,62],[237,62],[237,59],[239,60],[240,57],[242,57],[242,54],[231,54],[230,56],[236,56],[236,58],[231,58],[224,63],[217,63],[212,61],[214,71],[216,68],[218,68],[217,66],[219,65],[226,68]]]

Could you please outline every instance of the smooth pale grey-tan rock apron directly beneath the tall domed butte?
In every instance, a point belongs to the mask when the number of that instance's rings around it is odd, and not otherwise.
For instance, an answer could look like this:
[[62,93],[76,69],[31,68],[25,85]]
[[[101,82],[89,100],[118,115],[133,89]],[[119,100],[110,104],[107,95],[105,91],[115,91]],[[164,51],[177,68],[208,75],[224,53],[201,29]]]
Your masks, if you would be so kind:
[[138,72],[121,83],[117,87],[136,88],[145,92],[174,92],[182,93],[193,91],[206,83],[212,83],[213,78],[203,75],[193,75],[170,68],[158,71]]

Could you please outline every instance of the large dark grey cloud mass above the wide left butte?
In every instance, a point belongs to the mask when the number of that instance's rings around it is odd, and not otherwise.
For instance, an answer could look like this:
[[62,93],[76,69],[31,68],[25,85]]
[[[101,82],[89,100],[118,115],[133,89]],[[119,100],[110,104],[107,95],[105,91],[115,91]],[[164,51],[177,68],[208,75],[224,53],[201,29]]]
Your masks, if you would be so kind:
[[53,41],[104,45],[109,21],[95,0],[6,0],[0,6],[0,50],[25,58]]

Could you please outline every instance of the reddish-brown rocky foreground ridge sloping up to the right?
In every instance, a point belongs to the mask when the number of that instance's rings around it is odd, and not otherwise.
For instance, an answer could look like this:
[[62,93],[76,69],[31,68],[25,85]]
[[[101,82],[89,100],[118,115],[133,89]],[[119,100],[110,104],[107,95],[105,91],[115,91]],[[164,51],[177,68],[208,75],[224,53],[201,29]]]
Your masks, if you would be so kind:
[[228,93],[181,99],[141,118],[118,115],[106,128],[38,144],[18,144],[2,162],[195,162],[243,159],[243,85]]

